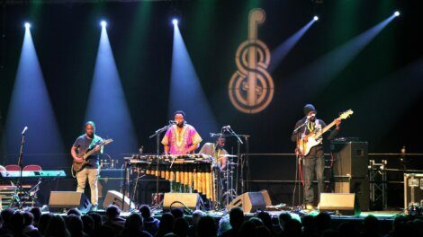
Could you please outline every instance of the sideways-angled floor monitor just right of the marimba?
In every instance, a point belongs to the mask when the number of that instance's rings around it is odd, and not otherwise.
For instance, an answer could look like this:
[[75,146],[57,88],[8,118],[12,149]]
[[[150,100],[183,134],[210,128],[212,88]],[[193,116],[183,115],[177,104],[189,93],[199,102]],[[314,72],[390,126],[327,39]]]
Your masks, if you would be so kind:
[[233,199],[226,206],[226,209],[229,211],[232,207],[236,206],[242,207],[244,213],[254,213],[257,210],[266,209],[266,199],[262,192],[246,192]]

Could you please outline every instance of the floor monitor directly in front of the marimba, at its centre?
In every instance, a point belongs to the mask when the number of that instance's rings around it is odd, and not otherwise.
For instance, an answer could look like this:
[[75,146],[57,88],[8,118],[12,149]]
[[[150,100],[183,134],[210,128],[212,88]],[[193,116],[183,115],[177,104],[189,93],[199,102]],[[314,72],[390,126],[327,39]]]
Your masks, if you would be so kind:
[[164,210],[168,210],[170,207],[183,206],[195,210],[201,209],[203,206],[202,198],[198,193],[165,193],[165,197],[163,198]]

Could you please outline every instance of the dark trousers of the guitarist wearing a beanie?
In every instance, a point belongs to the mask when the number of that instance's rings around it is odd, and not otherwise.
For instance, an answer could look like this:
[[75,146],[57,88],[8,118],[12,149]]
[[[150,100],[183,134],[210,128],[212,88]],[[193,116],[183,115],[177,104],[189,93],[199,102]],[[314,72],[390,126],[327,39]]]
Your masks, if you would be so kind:
[[[302,172],[304,175],[304,203],[314,205],[319,198],[320,193],[325,189],[325,181],[323,180],[323,172],[325,171],[325,158],[323,155],[311,158],[303,158]],[[314,197],[313,179],[316,173],[318,180],[319,196]]]

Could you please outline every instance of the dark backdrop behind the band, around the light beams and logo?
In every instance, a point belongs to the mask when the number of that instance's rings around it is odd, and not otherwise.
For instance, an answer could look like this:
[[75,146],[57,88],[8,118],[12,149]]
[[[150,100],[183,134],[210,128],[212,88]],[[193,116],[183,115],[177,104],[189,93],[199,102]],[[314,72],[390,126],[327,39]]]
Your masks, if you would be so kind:
[[[386,4],[386,2],[392,2]],[[231,125],[239,134],[250,135],[253,153],[292,153],[290,136],[302,107],[313,103],[327,122],[343,110],[355,114],[342,125],[339,136],[368,141],[370,152],[421,152],[419,115],[422,86],[423,37],[419,1],[172,1],[102,4],[4,4],[1,16],[0,126],[4,127],[23,43],[23,22],[32,23],[31,34],[40,66],[67,149],[80,135],[92,82],[100,37],[100,19],[107,31],[123,91],[134,122],[139,146],[154,153],[148,139],[166,124],[172,58],[172,16],[180,17],[179,28],[199,76],[202,88],[220,126]],[[144,4],[142,6],[141,4]],[[148,10],[145,10],[148,5]],[[275,98],[266,110],[244,114],[229,101],[227,87],[237,70],[235,52],[247,39],[247,13],[254,7],[266,11],[266,22],[258,37],[272,51],[295,31],[320,15],[302,40],[272,73]],[[294,75],[308,65],[390,16],[396,9],[401,18],[391,22],[329,83],[315,88]],[[140,21],[140,22],[139,22]],[[134,40],[135,39],[135,40]],[[330,67],[331,65],[327,65]],[[410,73],[411,71],[411,73]],[[194,114],[188,114],[187,120]],[[116,125],[119,126],[119,125]],[[194,124],[205,140],[209,132]],[[0,127],[1,128],[1,127]],[[0,129],[1,131],[1,129]],[[98,127],[99,135],[102,127]],[[31,135],[27,139],[42,139]],[[32,141],[31,141],[32,139]],[[48,141],[46,141],[48,142]],[[115,141],[120,143],[124,141]],[[2,149],[2,157],[16,150]],[[229,150],[235,149],[229,141]],[[244,149],[244,148],[243,148]],[[136,153],[121,151],[121,153]],[[45,151],[49,153],[49,151]],[[121,158],[121,156],[119,157]],[[263,166],[257,180],[293,180],[293,158],[255,157]],[[16,162],[14,157],[4,160]],[[38,159],[49,167],[50,159]],[[70,158],[60,156],[55,167],[66,167]],[[259,168],[261,167],[261,168]],[[271,168],[270,170],[268,167]]]

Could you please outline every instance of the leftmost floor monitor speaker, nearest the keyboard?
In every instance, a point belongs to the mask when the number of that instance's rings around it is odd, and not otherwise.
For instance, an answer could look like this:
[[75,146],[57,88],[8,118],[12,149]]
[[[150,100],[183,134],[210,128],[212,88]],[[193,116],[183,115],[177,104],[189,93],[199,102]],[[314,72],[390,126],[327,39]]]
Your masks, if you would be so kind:
[[87,212],[91,208],[91,202],[82,192],[51,191],[49,195],[49,210],[77,208]]

